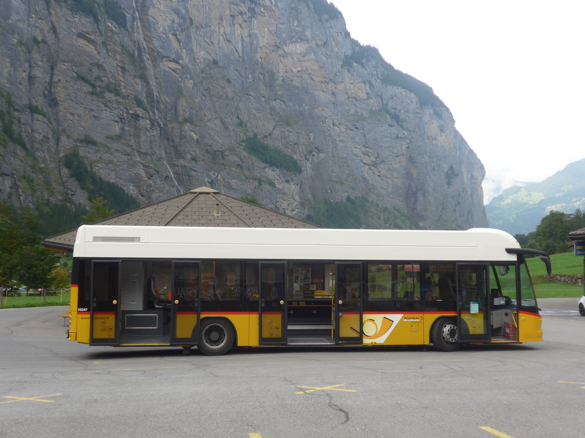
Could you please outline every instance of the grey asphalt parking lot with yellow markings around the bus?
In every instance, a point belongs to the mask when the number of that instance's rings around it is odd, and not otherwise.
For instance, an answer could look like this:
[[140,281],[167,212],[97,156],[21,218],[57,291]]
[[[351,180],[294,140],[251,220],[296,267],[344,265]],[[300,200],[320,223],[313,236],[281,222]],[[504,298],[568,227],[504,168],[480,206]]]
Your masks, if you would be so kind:
[[[560,301],[555,301],[560,300]],[[0,310],[0,436],[585,436],[585,318],[540,300],[545,340],[470,346],[89,347],[64,308]]]

